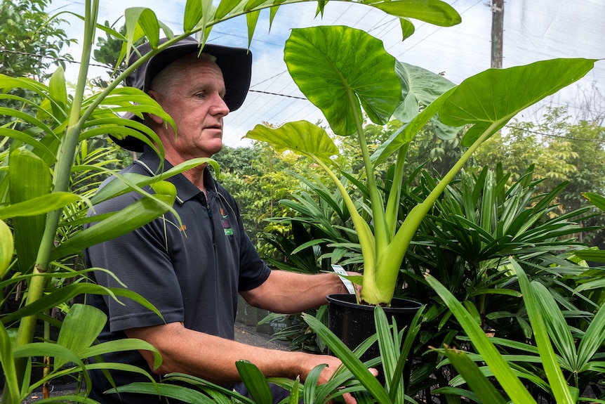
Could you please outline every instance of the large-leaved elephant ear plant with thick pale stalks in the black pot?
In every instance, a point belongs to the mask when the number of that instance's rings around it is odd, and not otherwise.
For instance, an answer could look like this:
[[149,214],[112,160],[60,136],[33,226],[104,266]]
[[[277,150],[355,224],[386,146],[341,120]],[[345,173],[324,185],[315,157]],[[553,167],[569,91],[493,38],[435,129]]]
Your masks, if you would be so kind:
[[[331,156],[338,148],[328,133],[310,122],[290,122],[277,129],[257,125],[246,137],[266,141],[278,152],[291,150],[314,159],[342,193],[350,211],[364,256],[361,299],[366,304],[389,305],[401,263],[415,231],[439,195],[474,150],[505,126],[518,112],[576,82],[596,60],[556,59],[503,70],[490,69],[458,86],[426,70],[399,63],[380,40],[350,27],[312,27],[293,30],[284,60],[300,91],[324,113],[338,136],[356,136],[364,159],[364,184],[371,202],[368,223],[339,181]],[[419,111],[414,96],[419,89],[435,89]],[[416,102],[415,102],[416,101]],[[362,125],[364,113],[375,124],[386,124],[394,112],[410,117],[401,130],[370,155]],[[399,197],[408,147],[420,129],[434,117],[448,126],[467,126],[463,145],[468,149],[425,200],[399,221]],[[384,201],[375,167],[397,153],[394,183]]]

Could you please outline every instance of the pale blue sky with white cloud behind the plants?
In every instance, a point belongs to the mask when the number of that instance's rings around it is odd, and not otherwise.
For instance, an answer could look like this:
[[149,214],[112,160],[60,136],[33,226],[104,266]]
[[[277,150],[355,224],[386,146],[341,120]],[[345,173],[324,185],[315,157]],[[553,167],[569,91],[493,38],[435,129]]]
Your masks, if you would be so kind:
[[[114,22],[124,15],[124,1],[100,0],[100,3],[99,22]],[[349,25],[366,30],[381,39],[385,49],[398,60],[441,73],[456,84],[488,69],[491,58],[488,0],[446,0],[446,3],[460,13],[462,23],[454,27],[436,27],[413,20],[415,33],[405,41],[401,41],[397,18],[361,4],[330,1],[323,18],[315,17],[315,3],[281,6],[271,29],[268,11],[263,12],[250,44],[253,53],[251,91],[244,105],[225,117],[224,143],[232,147],[248,145],[248,141],[241,138],[262,122],[281,124],[300,119],[310,122],[323,119],[317,107],[301,99],[303,94],[286,70],[284,44],[293,27]],[[128,0],[127,6],[151,8],[175,33],[182,32],[185,0]],[[52,0],[48,12],[58,11],[83,14],[83,0]],[[81,22],[67,15],[63,17],[70,21],[70,25],[63,27],[68,36],[81,37]],[[503,67],[550,58],[605,58],[604,21],[604,0],[505,1]],[[99,36],[105,37],[105,34],[99,33]],[[247,47],[245,18],[216,25],[208,41]],[[79,46],[69,48],[74,58],[79,59],[79,52]],[[105,70],[97,69],[92,73],[103,75]],[[68,66],[66,76],[75,80],[77,65]],[[577,84],[551,96],[540,106],[568,105],[571,115],[576,116],[582,101],[592,95],[605,107],[605,60],[597,62],[594,70]],[[521,115],[519,119],[536,119],[540,108],[534,107]]]

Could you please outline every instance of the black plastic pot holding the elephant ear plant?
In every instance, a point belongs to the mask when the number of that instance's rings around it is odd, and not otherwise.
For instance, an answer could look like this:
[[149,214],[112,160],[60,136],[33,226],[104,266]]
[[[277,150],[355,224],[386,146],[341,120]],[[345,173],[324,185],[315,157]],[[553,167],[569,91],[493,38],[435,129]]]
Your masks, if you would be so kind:
[[[353,350],[359,344],[376,333],[374,306],[357,304],[354,294],[328,294],[328,328]],[[399,330],[412,322],[414,315],[422,305],[416,301],[394,298],[390,307],[385,307],[389,323],[397,321]],[[363,356],[362,361],[380,355],[378,342],[373,344]]]

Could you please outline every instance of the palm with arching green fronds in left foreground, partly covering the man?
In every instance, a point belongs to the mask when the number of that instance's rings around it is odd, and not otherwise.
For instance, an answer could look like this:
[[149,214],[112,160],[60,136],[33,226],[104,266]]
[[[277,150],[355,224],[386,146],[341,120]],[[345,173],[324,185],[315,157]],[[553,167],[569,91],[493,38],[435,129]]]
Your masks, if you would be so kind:
[[[91,306],[69,309],[67,303],[73,297],[90,293],[107,294],[112,299],[126,296],[147,305],[151,310],[154,308],[128,289],[107,289],[84,282],[88,271],[105,271],[102,268],[77,271],[65,262],[88,246],[128,233],[170,211],[175,190],[163,180],[196,165],[214,163],[208,159],[194,159],[153,178],[119,176],[119,181],[112,181],[94,196],[88,192],[79,193],[79,185],[72,183],[74,178],[87,171],[91,172],[91,178],[95,174],[111,174],[111,170],[102,162],[78,163],[78,150],[85,150],[86,142],[95,136],[105,136],[107,133],[117,137],[134,136],[152,147],[154,144],[159,145],[157,152],[163,157],[164,151],[161,150],[155,133],[147,126],[121,118],[116,113],[134,112],[140,116],[144,112],[152,113],[172,125],[173,120],[145,93],[133,88],[119,88],[119,84],[146,60],[180,39],[200,32],[205,40],[214,25],[246,15],[251,40],[262,9],[271,9],[270,20],[273,21],[280,6],[299,2],[300,0],[223,0],[213,3],[208,0],[187,0],[182,34],[174,34],[157,20],[155,13],[149,8],[128,8],[125,12],[126,34],[123,35],[109,27],[98,25],[96,20],[100,1],[85,0],[84,15],[79,16],[84,21],[81,41],[83,50],[73,93],[67,91],[61,69],[53,74],[48,84],[0,74],[0,100],[27,105],[27,110],[34,110],[35,114],[0,107],[0,114],[8,116],[11,121],[0,127],[0,285],[3,292],[8,290],[11,291],[11,296],[23,298],[17,311],[1,317],[0,363],[6,377],[3,403],[21,402],[40,384],[48,382],[59,373],[65,374],[61,369],[63,366],[68,366],[68,373],[81,372],[84,377],[86,368],[91,367],[135,371],[125,369],[120,364],[86,363],[86,358],[100,355],[104,349],[153,350],[149,344],[135,340],[124,341],[124,344],[119,345],[100,344],[91,347],[106,319]],[[439,0],[354,2],[379,8],[399,18],[404,37],[413,32],[413,25],[408,18],[442,26],[460,22],[460,15]],[[323,12],[326,3],[318,1],[320,12]],[[146,37],[152,44],[153,51],[126,68],[105,89],[86,96],[88,66],[97,29],[105,30],[112,37],[124,41],[122,58],[130,53],[133,44],[142,37]],[[163,34],[160,35],[162,31]],[[167,37],[168,41],[160,44],[160,36]],[[36,93],[42,101],[36,103],[11,93],[19,89]],[[20,129],[21,127],[24,129]],[[154,193],[143,190],[142,187],[146,185],[152,186]],[[131,190],[142,193],[142,200],[114,214],[96,218],[98,223],[95,226],[81,230],[81,226],[86,223],[84,216],[89,207]],[[65,280],[72,281],[71,285],[64,285],[69,283]],[[22,285],[27,289],[17,292]],[[8,296],[0,295],[0,301],[4,308]],[[58,306],[69,310],[69,317],[62,327],[60,322],[50,318],[47,313]],[[56,344],[34,342],[36,322],[40,318],[61,327]],[[82,333],[81,330],[87,332]],[[11,334],[16,334],[16,337],[11,338]],[[46,335],[44,337],[51,341]],[[55,369],[48,365],[42,379],[31,379],[34,356],[49,358],[48,363],[54,358]],[[84,398],[74,400],[81,401]]]

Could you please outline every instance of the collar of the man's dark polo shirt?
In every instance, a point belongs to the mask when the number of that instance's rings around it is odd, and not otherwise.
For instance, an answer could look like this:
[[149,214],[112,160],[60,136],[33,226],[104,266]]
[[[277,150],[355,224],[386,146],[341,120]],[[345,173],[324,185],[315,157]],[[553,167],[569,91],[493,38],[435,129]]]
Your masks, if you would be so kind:
[[[145,145],[142,155],[135,161],[135,164],[140,165],[150,175],[159,174],[160,159],[159,156],[154,152],[152,148]],[[164,159],[164,169],[161,172],[168,171],[173,167],[168,160]],[[176,200],[182,204],[186,200],[190,200],[201,193],[201,190],[197,188],[191,181],[189,181],[184,175],[177,174],[166,178],[166,181],[173,183],[176,188]],[[204,186],[206,186],[206,193],[214,193],[215,181],[214,178],[206,167],[204,169]],[[210,195],[208,195],[210,197]]]

